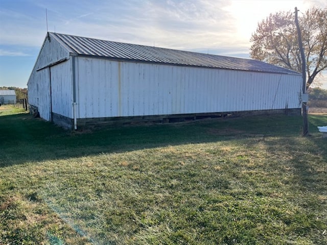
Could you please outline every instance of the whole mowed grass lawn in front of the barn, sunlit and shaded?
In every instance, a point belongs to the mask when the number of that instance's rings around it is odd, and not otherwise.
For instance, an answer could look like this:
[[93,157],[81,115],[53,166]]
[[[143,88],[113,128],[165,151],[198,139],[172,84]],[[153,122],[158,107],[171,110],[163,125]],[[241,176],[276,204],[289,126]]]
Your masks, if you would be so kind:
[[325,114],[301,137],[300,116],[68,132],[12,109],[0,244],[327,243]]

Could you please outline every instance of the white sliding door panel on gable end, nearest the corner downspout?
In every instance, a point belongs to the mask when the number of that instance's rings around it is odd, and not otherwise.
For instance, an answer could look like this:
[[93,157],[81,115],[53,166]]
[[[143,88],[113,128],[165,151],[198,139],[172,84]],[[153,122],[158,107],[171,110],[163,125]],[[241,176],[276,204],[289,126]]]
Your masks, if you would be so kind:
[[51,67],[52,112],[73,118],[71,60]]

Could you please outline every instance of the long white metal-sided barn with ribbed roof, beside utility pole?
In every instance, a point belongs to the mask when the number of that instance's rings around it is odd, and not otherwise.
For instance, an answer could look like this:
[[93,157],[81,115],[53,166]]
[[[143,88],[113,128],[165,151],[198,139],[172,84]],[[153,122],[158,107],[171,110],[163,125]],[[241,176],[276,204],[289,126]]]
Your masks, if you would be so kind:
[[298,113],[301,75],[252,59],[48,33],[31,110],[66,128],[95,121]]

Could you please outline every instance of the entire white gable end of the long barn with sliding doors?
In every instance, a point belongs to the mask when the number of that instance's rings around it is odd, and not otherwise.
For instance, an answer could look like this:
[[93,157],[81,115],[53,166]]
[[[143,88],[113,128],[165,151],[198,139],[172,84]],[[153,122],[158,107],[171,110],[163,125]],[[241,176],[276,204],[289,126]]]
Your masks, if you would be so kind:
[[52,113],[72,117],[72,64],[67,48],[47,35],[28,81],[31,110],[52,120]]

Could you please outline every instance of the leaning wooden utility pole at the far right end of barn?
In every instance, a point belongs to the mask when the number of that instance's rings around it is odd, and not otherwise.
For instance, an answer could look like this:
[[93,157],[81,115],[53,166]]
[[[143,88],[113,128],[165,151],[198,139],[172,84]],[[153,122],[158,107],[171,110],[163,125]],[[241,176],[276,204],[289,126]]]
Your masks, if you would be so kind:
[[301,60],[302,60],[302,117],[303,117],[303,136],[309,135],[309,127],[308,127],[308,112],[307,112],[307,102],[308,95],[306,94],[306,85],[307,85],[307,76],[306,76],[306,57],[305,52],[303,50],[302,38],[301,38],[301,30],[298,24],[297,19],[297,8],[295,7],[295,25],[297,30],[297,39],[298,46],[300,49]]

